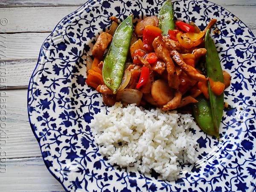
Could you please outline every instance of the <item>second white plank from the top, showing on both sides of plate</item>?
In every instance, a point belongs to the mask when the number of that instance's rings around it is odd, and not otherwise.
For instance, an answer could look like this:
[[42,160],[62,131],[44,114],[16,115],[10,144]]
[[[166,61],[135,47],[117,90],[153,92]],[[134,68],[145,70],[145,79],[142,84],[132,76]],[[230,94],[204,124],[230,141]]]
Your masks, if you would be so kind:
[[[249,28],[256,29],[256,6],[230,6],[224,8],[243,20]],[[75,11],[72,7],[16,7],[1,8],[0,18],[6,17],[8,24],[2,30],[7,33],[16,32],[51,32],[56,24],[66,15]],[[17,20],[19,15],[19,20]]]

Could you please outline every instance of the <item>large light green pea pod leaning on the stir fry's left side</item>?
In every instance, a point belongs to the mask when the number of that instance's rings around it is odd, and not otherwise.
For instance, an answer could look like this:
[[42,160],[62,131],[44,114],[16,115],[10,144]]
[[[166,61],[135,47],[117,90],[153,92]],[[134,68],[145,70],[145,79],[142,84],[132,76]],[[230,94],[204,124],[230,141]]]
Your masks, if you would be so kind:
[[104,58],[102,78],[108,88],[113,90],[113,94],[116,94],[122,82],[132,31],[133,23],[130,15],[117,27]]

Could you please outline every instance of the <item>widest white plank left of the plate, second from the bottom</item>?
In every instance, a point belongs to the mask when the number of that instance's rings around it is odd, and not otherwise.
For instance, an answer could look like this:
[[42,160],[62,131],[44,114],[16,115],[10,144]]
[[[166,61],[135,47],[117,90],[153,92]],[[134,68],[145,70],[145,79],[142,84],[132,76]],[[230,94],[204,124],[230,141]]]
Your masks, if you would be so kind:
[[[27,90],[2,90],[1,95],[7,96],[1,97],[6,99],[7,112],[1,116],[6,123],[1,134],[1,150],[6,151],[7,158],[41,157],[38,142],[29,125]],[[5,137],[2,137],[3,134]]]

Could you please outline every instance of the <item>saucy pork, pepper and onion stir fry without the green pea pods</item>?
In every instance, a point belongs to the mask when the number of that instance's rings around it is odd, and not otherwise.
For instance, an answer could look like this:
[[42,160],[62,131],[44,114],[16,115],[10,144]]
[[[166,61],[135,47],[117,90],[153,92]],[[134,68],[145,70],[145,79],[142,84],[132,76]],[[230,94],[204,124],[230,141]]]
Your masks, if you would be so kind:
[[[104,54],[113,40],[113,26],[118,26],[113,20],[110,31],[100,34],[92,49],[94,59],[87,69],[86,83],[102,93],[105,105],[109,106],[121,101],[173,110],[196,103],[196,97],[208,88],[201,86],[209,79],[198,66],[207,53],[204,35],[215,22],[212,19],[203,31],[194,23],[178,23],[168,35],[161,34],[156,16],[138,22],[132,32],[122,83],[115,93],[102,79]],[[179,27],[182,25],[189,25],[193,30]],[[227,87],[230,76],[227,72],[224,76]]]

